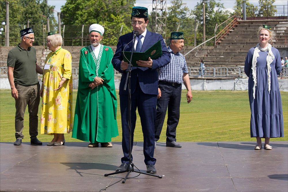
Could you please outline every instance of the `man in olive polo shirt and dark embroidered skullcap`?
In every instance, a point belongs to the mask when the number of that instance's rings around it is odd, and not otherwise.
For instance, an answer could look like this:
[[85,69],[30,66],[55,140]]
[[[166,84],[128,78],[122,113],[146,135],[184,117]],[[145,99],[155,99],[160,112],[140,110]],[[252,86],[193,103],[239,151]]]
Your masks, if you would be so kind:
[[38,107],[39,82],[37,73],[43,74],[43,70],[36,63],[36,50],[32,47],[34,32],[31,28],[20,31],[21,43],[8,53],[8,80],[12,97],[15,98],[15,137],[14,145],[21,145],[24,135],[24,113],[28,104],[29,110],[29,134],[31,144],[42,145],[37,139],[38,135]]

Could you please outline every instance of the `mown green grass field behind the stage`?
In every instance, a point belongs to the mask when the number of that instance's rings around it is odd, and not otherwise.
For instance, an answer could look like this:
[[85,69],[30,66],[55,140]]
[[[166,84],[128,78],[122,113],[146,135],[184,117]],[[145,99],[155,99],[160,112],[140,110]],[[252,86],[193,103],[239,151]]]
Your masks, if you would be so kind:
[[[117,93],[118,94],[118,93]],[[180,121],[177,127],[177,141],[255,141],[250,138],[250,107],[247,91],[193,91],[193,100],[186,102],[186,92],[182,92]],[[75,108],[77,90],[73,91],[73,108]],[[118,95],[117,95],[118,96]],[[288,92],[281,92],[284,115],[284,138],[272,138],[271,141],[287,141],[288,139]],[[118,96],[119,98],[119,96]],[[119,99],[118,99],[119,100]],[[41,102],[41,101],[40,101]],[[41,104],[39,105],[39,117]],[[15,101],[10,90],[0,90],[0,141],[15,141]],[[166,141],[166,120],[160,141]],[[122,140],[120,106],[118,102],[117,121],[119,136],[113,141]],[[26,109],[24,117],[23,142],[29,142],[29,114]],[[40,132],[40,121],[38,131]],[[38,135],[39,140],[49,142],[53,136]],[[65,134],[67,142],[80,141]],[[140,118],[137,114],[134,141],[143,141]]]

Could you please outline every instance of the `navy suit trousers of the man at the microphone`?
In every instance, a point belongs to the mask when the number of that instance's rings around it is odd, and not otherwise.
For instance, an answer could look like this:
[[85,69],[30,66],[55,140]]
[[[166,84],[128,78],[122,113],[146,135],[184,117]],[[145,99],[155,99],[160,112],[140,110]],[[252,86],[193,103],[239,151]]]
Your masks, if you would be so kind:
[[[128,87],[127,87],[128,88]],[[121,158],[122,163],[129,163],[129,127],[128,127],[128,95],[120,95],[120,111],[122,121],[122,150],[124,157]],[[142,92],[139,82],[137,82],[136,90],[131,94],[131,149],[133,146],[133,136],[136,124],[136,109],[141,120],[143,132],[143,153],[146,165],[155,164],[154,156],[154,122],[156,118],[157,95],[145,94]],[[133,157],[131,155],[131,160]]]

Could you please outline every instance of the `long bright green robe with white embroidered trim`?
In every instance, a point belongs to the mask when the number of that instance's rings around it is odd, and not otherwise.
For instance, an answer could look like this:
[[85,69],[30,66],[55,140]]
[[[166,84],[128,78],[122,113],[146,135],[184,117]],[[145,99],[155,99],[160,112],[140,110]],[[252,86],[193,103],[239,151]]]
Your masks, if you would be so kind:
[[[100,52],[95,57],[91,45],[80,51],[79,82],[76,99],[72,137],[92,143],[110,142],[118,136],[116,121],[117,98],[114,84],[114,69],[111,64],[113,51],[98,45]],[[102,85],[88,87],[95,77],[101,77]]]

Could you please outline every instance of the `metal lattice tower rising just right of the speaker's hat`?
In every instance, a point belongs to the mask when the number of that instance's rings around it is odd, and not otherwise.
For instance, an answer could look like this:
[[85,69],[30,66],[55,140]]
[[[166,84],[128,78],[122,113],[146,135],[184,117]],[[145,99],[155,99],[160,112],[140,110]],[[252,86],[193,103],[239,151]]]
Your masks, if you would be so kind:
[[155,15],[155,33],[166,36],[166,0],[152,0],[152,10]]

